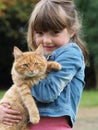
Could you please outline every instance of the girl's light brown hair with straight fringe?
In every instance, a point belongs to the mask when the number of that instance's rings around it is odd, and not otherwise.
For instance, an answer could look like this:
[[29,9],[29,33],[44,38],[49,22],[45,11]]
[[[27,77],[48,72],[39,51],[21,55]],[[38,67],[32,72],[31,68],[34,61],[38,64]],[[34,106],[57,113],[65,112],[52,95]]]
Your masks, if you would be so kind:
[[41,0],[33,10],[28,26],[28,46],[35,49],[35,31],[63,30],[74,32],[73,40],[81,48],[85,62],[88,54],[80,38],[81,23],[73,0]]

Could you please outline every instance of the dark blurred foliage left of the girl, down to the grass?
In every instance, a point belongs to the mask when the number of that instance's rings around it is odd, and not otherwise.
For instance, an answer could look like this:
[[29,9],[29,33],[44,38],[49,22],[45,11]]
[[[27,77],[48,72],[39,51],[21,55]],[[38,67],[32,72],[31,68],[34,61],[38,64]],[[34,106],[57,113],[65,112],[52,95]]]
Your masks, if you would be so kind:
[[27,24],[33,0],[0,0],[0,87],[11,85],[13,47],[27,49]]

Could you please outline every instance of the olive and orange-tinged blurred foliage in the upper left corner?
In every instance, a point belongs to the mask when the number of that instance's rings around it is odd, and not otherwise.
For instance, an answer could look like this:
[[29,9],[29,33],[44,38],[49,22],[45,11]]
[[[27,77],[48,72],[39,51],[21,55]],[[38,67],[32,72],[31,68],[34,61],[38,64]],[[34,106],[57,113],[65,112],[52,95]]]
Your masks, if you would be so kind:
[[14,40],[21,39],[25,25],[29,19],[33,3],[31,0],[2,1],[0,4],[0,32],[5,34],[6,38]]

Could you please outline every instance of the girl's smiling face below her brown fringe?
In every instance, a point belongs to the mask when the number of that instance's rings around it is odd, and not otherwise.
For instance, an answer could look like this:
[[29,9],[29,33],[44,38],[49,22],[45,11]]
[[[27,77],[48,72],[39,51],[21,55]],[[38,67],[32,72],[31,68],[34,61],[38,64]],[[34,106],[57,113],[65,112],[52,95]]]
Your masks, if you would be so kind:
[[35,31],[35,42],[37,46],[43,45],[45,55],[50,55],[55,49],[68,44],[72,36],[66,28],[62,31]]

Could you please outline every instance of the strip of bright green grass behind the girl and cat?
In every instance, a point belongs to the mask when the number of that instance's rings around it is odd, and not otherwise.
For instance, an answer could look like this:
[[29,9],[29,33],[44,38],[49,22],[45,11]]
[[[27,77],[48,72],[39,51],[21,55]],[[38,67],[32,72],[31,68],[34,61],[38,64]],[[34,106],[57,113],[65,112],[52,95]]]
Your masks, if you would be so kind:
[[[0,98],[2,98],[3,94],[5,93],[5,90],[0,90]],[[97,107],[98,106],[98,91],[90,90],[90,91],[84,91],[80,107]]]

